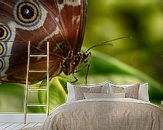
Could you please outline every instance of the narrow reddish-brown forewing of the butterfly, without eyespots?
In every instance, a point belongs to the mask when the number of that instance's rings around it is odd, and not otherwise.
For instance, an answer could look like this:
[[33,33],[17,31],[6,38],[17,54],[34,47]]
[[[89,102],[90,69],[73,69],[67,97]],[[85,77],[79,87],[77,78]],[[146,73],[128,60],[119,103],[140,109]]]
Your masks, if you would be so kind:
[[58,13],[66,40],[76,54],[81,50],[86,25],[86,0],[58,0]]

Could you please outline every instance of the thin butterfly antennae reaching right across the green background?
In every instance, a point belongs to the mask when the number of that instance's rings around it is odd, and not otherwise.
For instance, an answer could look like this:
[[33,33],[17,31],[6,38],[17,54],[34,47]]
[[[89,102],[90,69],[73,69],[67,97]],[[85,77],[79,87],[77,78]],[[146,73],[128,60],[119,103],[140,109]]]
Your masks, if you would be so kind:
[[99,44],[95,44],[93,46],[91,46],[90,48],[88,48],[88,50],[86,51],[89,52],[91,49],[95,48],[95,47],[99,47],[99,46],[105,46],[105,45],[110,45],[110,46],[113,46],[113,44],[111,44],[111,42],[114,42],[114,41],[117,41],[117,40],[121,40],[121,39],[126,39],[126,38],[132,38],[131,36],[128,36],[128,37],[119,37],[119,38],[115,38],[115,39],[112,39],[112,40],[109,40],[109,41],[105,41],[105,42],[102,42],[102,43],[99,43]]

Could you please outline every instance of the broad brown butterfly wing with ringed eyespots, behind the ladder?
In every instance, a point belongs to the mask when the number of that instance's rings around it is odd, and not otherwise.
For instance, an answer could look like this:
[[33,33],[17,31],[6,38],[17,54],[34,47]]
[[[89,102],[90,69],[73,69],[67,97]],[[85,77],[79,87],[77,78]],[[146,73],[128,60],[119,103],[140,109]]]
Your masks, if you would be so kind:
[[[46,4],[48,6],[48,3]],[[0,1],[0,77],[2,81],[25,81],[29,40],[31,54],[45,53],[46,41],[50,42],[50,76],[60,72],[60,62],[64,56],[62,49],[66,42],[55,17],[55,13],[43,6],[41,1]],[[41,70],[45,66],[46,58],[31,59],[31,69]],[[45,77],[45,73],[31,74],[29,81],[33,83]]]

